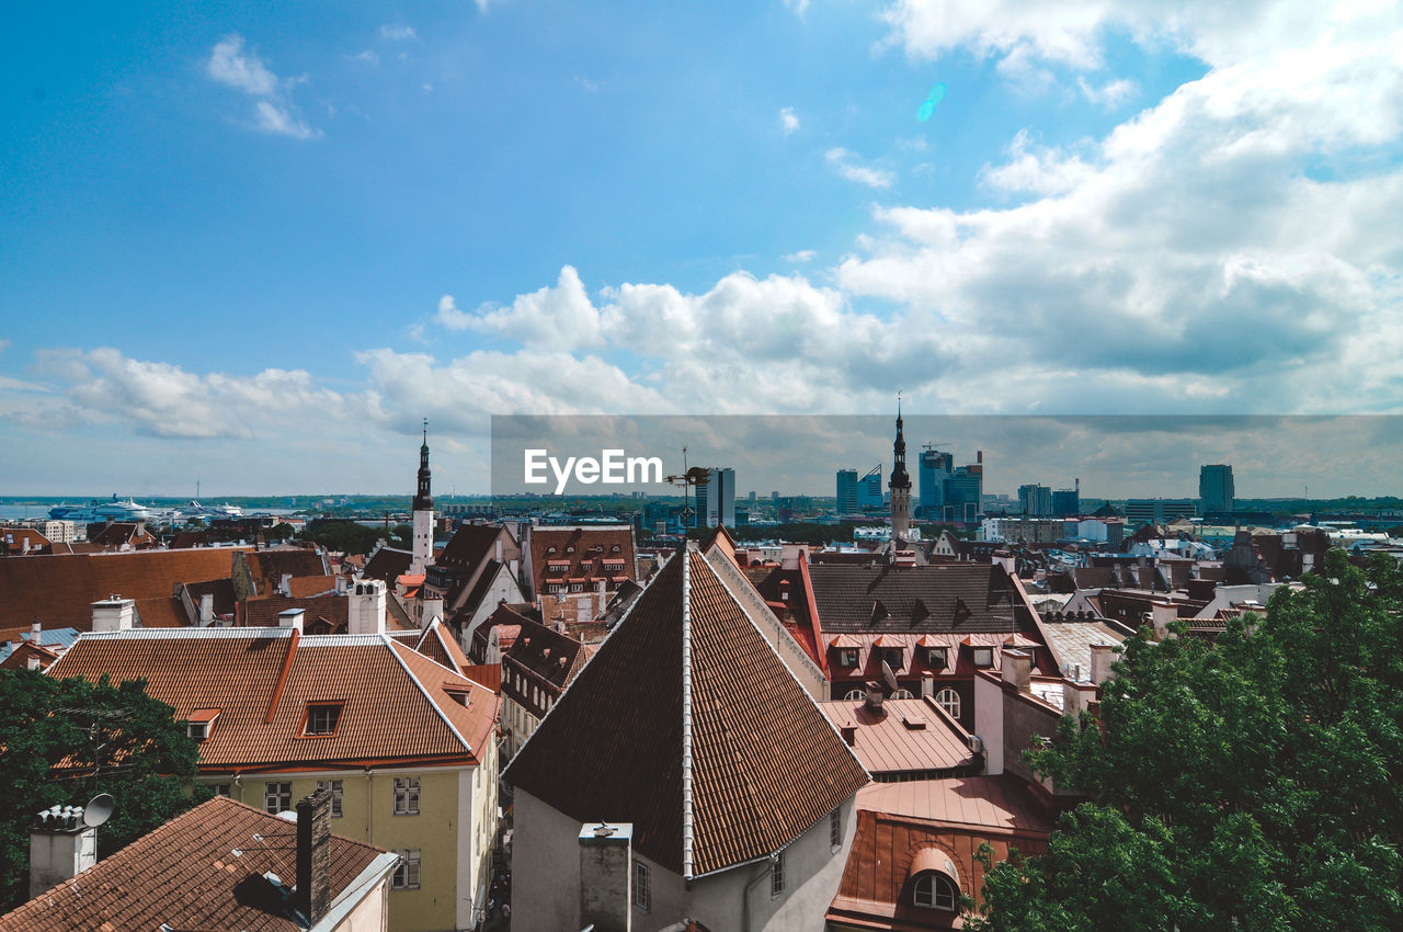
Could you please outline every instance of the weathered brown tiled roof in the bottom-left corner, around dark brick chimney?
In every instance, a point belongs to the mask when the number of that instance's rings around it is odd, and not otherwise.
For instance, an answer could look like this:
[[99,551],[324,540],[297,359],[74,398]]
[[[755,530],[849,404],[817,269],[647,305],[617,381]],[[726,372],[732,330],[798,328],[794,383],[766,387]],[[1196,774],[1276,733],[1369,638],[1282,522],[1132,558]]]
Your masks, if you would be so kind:
[[[327,853],[335,900],[386,852],[331,835]],[[0,917],[0,928],[14,932],[306,928],[288,918],[279,894],[262,879],[269,870],[289,886],[296,881],[296,823],[216,796]]]

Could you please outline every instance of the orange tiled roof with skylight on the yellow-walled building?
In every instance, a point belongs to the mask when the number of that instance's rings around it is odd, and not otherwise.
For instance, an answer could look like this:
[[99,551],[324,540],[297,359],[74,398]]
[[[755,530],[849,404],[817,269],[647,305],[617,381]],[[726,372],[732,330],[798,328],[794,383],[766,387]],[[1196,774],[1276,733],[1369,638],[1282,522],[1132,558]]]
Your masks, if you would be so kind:
[[[177,717],[220,709],[201,768],[274,769],[355,761],[476,761],[497,720],[497,696],[380,634],[293,637],[292,629],[178,629],[88,633],[51,668],[55,677],[146,678]],[[469,689],[463,707],[445,686]],[[309,703],[340,702],[331,735],[304,737]]]

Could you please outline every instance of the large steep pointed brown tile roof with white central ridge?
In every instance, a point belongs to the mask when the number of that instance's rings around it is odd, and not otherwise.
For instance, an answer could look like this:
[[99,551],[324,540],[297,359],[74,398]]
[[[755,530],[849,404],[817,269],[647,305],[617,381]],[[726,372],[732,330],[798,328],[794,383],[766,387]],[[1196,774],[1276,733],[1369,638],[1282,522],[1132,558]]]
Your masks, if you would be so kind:
[[685,877],[779,851],[867,783],[694,546],[638,597],[506,776],[579,821],[633,823],[638,851]]

